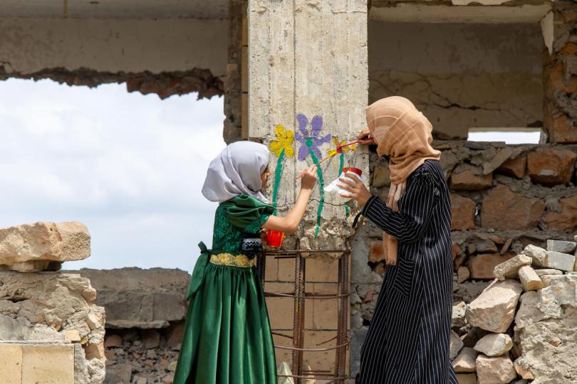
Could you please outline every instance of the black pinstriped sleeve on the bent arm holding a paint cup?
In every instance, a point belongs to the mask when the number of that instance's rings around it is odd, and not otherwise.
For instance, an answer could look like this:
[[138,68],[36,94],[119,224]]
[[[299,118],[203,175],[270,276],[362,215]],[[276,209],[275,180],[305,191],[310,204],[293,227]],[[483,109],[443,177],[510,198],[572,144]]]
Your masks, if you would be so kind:
[[407,191],[399,201],[400,211],[393,212],[377,196],[363,207],[363,215],[400,242],[422,238],[440,192],[427,171],[415,171]]

